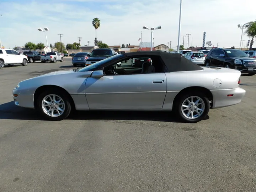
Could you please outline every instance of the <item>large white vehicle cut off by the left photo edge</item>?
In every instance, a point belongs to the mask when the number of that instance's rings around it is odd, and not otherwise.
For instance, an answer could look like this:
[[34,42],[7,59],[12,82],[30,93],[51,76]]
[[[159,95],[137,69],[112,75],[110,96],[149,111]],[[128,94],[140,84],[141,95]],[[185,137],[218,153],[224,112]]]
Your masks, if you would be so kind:
[[5,65],[12,66],[14,64],[21,64],[27,66],[28,58],[26,55],[18,53],[13,49],[0,49],[0,69]]

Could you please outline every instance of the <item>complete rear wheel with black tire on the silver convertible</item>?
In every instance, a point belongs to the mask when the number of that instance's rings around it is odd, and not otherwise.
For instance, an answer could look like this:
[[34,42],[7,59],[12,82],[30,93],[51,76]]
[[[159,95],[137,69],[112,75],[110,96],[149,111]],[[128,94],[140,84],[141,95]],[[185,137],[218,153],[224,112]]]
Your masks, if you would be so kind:
[[178,98],[175,110],[182,121],[196,123],[206,118],[210,103],[201,92],[189,92]]

